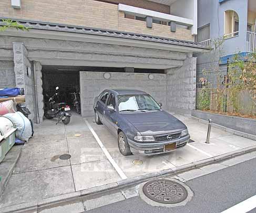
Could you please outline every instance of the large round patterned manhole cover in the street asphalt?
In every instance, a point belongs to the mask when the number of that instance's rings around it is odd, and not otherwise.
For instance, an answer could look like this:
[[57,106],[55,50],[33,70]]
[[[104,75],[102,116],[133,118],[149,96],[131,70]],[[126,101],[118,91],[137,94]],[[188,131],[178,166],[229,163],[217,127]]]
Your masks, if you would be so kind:
[[162,204],[178,204],[188,197],[184,186],[168,179],[151,180],[142,190],[149,199]]

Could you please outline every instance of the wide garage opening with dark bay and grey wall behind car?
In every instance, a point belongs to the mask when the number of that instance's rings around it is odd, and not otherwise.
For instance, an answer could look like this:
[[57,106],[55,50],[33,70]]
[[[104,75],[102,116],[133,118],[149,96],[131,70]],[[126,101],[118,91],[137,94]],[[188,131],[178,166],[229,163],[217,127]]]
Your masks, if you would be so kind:
[[43,66],[42,79],[44,104],[58,87],[59,101],[70,105],[74,112],[77,94],[82,116],[94,115],[94,98],[105,89],[139,89],[161,102],[163,109],[167,106],[167,74],[161,69]]

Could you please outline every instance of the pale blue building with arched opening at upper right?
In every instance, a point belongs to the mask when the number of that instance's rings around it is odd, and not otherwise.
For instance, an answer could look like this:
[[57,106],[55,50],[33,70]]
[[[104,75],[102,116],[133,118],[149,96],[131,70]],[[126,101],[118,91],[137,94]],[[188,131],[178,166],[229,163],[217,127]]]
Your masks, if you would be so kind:
[[[221,66],[227,75],[227,65],[234,55],[247,56],[256,50],[256,2],[253,0],[199,0],[198,36],[196,41],[214,47],[218,38],[223,39],[220,56],[198,54],[198,80],[203,69]],[[215,52],[216,54],[216,52]],[[212,65],[213,59],[217,60]]]

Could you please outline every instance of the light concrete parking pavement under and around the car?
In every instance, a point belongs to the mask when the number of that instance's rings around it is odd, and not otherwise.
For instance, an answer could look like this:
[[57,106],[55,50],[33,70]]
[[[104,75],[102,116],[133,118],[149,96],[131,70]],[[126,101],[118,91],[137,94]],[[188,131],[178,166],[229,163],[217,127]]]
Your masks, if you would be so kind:
[[[187,116],[176,116],[188,126],[191,139],[195,142],[175,152],[156,156],[122,156],[115,136],[103,125],[95,124],[93,118],[87,118],[87,121],[128,179],[165,169],[175,171],[178,166],[186,167],[210,157],[256,145],[255,141],[216,128],[212,128],[211,144],[205,144],[206,124]],[[0,211],[3,207],[73,195],[80,190],[122,180],[83,118],[73,115],[67,126],[62,123],[55,125],[55,122],[46,120],[35,127],[36,134],[25,144],[1,197]],[[61,160],[59,156],[62,154],[70,154],[71,158]],[[135,160],[142,164],[135,164],[138,162]]]

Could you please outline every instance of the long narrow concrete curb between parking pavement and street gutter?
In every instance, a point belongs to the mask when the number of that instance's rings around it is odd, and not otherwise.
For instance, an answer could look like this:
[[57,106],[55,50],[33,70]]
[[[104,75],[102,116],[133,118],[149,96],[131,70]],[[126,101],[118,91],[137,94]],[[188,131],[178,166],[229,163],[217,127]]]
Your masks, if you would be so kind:
[[87,196],[97,195],[99,193],[104,193],[106,191],[120,190],[125,187],[129,187],[132,185],[137,185],[140,183],[147,182],[148,180],[151,180],[151,179],[186,172],[193,168],[198,168],[198,167],[206,166],[209,164],[214,164],[214,163],[224,161],[226,159],[229,159],[229,158],[232,158],[235,156],[239,156],[239,155],[243,155],[246,153],[250,153],[253,151],[256,151],[256,145],[250,146],[247,148],[243,148],[241,150],[233,151],[230,153],[218,155],[215,157],[203,159],[201,161],[193,162],[190,164],[178,166],[175,169],[173,169],[173,168],[166,169],[166,170],[163,170],[160,172],[150,173],[150,174],[133,177],[133,178],[128,178],[125,180],[120,180],[118,182],[114,182],[114,183],[110,183],[110,184],[106,184],[106,185],[102,185],[102,186],[96,186],[93,188],[84,189],[84,190],[80,190],[80,191],[75,191],[73,193],[68,193],[65,195],[58,195],[55,197],[44,198],[44,199],[40,199],[37,201],[29,201],[29,202],[23,203],[23,204],[2,207],[2,208],[0,208],[0,213],[33,211],[33,210],[37,210],[38,208],[49,207],[52,205],[64,203],[66,201],[72,201],[75,199],[85,198]]

